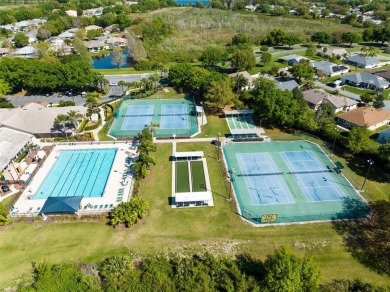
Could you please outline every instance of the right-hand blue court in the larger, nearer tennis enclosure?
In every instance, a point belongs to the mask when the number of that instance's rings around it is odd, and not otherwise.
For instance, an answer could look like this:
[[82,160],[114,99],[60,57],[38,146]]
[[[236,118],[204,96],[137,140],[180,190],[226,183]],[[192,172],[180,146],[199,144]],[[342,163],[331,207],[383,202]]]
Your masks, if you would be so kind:
[[[281,153],[287,167],[309,201],[343,200],[345,195],[332,180],[329,169],[322,166],[313,151],[285,151]],[[308,173],[299,173],[308,172]]]

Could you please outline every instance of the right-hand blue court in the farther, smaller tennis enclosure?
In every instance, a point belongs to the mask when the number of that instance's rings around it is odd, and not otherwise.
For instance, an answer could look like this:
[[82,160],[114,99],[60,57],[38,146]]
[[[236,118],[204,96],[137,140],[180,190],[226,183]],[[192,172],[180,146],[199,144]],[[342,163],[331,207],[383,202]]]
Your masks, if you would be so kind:
[[161,106],[160,129],[188,129],[188,110],[185,104],[163,104]]

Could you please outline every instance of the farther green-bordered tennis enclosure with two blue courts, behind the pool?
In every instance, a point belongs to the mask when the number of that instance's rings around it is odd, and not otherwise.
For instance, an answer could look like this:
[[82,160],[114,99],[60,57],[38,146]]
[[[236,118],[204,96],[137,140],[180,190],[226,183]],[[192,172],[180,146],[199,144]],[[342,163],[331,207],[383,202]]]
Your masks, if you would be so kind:
[[190,99],[125,100],[109,133],[133,138],[145,127],[152,127],[155,137],[191,137],[199,132],[195,104]]

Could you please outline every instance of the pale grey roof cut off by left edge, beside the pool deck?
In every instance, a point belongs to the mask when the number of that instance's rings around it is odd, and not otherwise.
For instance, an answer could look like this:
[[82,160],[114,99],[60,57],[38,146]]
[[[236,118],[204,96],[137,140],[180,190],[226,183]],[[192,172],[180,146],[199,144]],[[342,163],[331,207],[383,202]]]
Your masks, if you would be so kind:
[[11,159],[31,140],[26,134],[6,127],[0,127],[0,170],[3,170]]

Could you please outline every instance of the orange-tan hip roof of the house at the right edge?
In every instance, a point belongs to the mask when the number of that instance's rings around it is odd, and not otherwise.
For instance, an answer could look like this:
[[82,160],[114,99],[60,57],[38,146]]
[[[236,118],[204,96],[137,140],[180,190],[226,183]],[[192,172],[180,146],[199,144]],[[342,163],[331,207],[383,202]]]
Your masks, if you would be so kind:
[[342,113],[338,116],[357,126],[373,126],[385,120],[390,120],[390,112],[386,110],[377,110],[372,107],[361,107],[356,110]]

